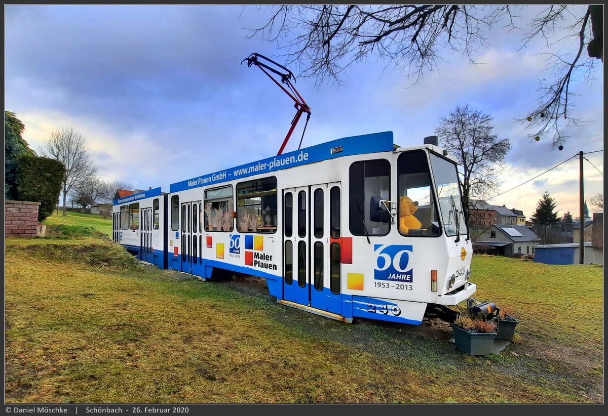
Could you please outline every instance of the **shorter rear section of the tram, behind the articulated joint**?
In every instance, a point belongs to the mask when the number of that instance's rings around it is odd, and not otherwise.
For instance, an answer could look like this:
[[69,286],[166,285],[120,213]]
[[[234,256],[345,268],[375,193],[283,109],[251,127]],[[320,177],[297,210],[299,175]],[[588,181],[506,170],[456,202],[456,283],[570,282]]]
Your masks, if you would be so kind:
[[114,200],[112,239],[142,262],[167,268],[167,195],[150,189]]

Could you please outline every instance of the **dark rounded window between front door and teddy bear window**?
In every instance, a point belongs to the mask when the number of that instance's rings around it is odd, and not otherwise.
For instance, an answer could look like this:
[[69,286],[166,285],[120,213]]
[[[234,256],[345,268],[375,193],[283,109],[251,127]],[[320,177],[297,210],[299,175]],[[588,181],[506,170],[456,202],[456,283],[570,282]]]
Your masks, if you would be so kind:
[[367,160],[350,166],[348,223],[355,236],[385,236],[390,221],[378,218],[378,208],[372,200],[390,200],[390,163],[387,160]]

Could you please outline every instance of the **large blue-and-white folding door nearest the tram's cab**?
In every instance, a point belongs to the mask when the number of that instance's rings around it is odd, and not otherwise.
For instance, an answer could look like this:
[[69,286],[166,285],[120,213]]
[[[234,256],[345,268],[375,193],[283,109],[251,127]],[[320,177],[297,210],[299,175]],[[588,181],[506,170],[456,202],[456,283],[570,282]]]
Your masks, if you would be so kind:
[[[340,313],[340,183],[323,183],[283,191],[283,298]],[[332,254],[333,253],[333,254]],[[337,258],[334,258],[336,257]],[[339,278],[339,270],[337,270]]]

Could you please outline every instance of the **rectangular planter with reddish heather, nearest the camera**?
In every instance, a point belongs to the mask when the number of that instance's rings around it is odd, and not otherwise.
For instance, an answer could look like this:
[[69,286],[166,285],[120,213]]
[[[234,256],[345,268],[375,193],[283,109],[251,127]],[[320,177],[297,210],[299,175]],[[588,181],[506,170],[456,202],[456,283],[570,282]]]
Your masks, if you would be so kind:
[[496,324],[483,319],[473,319],[460,313],[451,324],[456,347],[469,355],[489,355],[492,353]]

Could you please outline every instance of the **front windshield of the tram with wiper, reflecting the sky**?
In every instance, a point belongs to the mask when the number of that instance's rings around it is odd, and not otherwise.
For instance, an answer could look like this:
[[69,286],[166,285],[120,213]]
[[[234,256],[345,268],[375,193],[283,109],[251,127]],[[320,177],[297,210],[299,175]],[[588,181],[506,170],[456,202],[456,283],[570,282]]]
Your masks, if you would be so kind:
[[456,165],[433,153],[429,153],[429,157],[433,179],[437,185],[437,199],[444,232],[447,236],[466,234],[465,212]]

